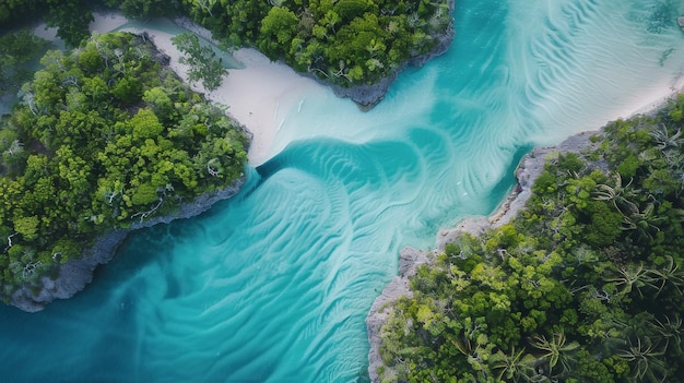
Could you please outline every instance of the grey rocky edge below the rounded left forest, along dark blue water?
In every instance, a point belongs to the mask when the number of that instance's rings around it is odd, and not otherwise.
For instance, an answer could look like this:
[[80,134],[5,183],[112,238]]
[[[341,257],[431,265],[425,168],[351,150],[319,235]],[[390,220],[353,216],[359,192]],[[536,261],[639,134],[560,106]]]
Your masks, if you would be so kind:
[[59,267],[57,278],[40,278],[37,285],[24,286],[12,295],[9,302],[23,311],[40,311],[55,299],[71,298],[81,291],[87,284],[93,282],[93,272],[98,265],[109,262],[126,239],[126,236],[137,229],[151,227],[157,224],[168,224],[175,219],[190,218],[207,212],[216,202],[237,194],[245,178],[237,180],[232,185],[213,193],[205,193],[196,198],[192,202],[180,205],[174,215],[154,217],[145,222],[133,224],[129,229],[115,229],[95,240],[95,244],[85,249],[80,260],[71,260]]

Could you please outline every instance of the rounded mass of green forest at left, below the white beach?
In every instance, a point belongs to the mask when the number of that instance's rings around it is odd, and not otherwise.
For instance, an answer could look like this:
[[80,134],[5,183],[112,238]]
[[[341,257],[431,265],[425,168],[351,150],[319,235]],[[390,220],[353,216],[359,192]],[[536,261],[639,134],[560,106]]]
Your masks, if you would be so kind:
[[144,36],[48,51],[0,125],[0,298],[56,276],[99,235],[244,177],[248,137]]

